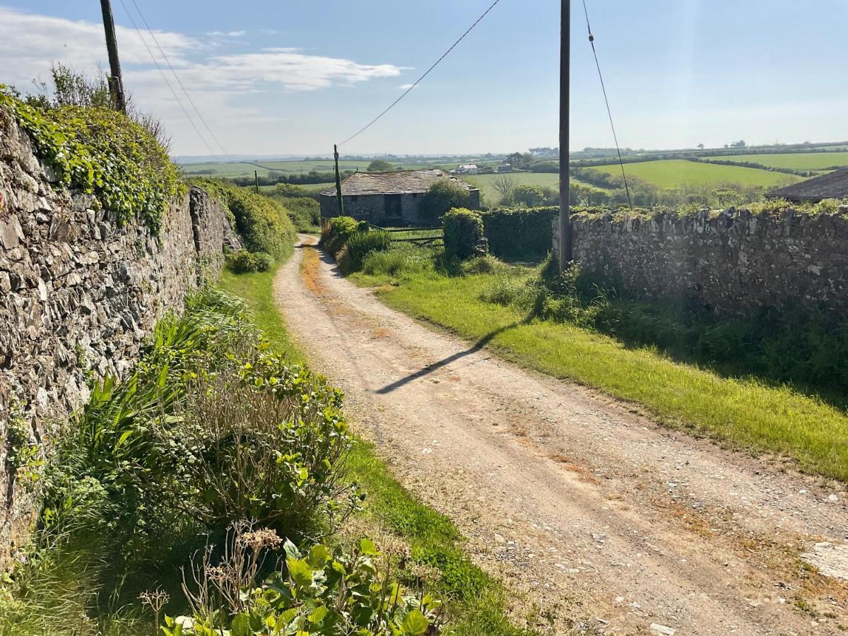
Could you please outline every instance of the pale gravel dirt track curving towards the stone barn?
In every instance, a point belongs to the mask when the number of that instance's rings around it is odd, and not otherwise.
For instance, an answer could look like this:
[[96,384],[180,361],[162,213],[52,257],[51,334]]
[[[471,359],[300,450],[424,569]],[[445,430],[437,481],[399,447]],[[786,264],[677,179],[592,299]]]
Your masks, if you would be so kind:
[[801,559],[848,576],[844,488],[522,371],[388,309],[315,248],[296,252],[275,284],[293,335],[519,610],[537,603],[554,633],[848,628],[848,580]]

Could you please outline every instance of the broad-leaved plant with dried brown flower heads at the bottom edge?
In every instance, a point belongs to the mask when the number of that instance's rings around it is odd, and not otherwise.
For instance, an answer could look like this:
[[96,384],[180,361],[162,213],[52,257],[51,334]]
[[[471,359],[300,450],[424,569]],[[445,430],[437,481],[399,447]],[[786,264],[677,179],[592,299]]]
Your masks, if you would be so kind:
[[285,568],[275,568],[260,581],[265,555],[281,543],[276,533],[236,524],[221,564],[213,565],[207,550],[204,561],[192,568],[194,589],[184,588],[192,616],[166,617],[165,635],[180,636],[187,633],[184,629],[209,636],[421,636],[438,631],[441,601],[409,594],[394,582],[389,575],[395,564],[370,539],[349,551],[316,544],[301,552],[287,541]]

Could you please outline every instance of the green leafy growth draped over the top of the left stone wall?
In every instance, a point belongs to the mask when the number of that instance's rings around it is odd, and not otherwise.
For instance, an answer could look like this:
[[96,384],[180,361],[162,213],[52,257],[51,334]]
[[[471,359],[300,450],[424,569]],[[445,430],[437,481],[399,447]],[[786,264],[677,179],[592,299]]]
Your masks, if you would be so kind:
[[90,106],[33,105],[0,85],[0,108],[23,126],[59,183],[93,194],[119,224],[139,218],[159,232],[183,187],[165,149],[125,114]]

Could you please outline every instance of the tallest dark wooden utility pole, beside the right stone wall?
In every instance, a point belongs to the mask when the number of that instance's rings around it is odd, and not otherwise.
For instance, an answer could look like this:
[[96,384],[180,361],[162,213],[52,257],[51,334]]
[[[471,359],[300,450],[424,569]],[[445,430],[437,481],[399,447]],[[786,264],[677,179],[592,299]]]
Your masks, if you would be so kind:
[[568,126],[571,63],[571,0],[561,0],[560,9],[560,271],[572,262],[572,223],[568,196]]

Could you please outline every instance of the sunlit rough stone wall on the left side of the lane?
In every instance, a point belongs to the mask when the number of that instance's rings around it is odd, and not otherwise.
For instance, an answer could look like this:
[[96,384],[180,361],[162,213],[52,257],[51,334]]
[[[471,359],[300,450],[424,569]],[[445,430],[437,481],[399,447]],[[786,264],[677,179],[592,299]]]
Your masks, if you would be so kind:
[[92,197],[51,183],[0,112],[0,563],[34,499],[16,447],[43,454],[89,379],[126,376],[157,318],[218,273],[228,228],[197,188],[172,202],[159,236],[117,226]]

